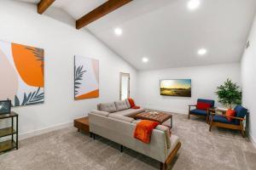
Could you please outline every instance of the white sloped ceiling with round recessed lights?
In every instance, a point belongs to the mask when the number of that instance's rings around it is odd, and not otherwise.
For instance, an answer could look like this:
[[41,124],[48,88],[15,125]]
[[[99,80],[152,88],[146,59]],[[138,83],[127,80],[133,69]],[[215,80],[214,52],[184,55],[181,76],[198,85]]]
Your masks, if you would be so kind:
[[[38,3],[38,0],[20,0]],[[74,20],[107,0],[56,0]],[[138,70],[239,62],[256,11],[255,0],[134,0],[86,28]],[[123,29],[116,37],[115,27]],[[197,50],[207,48],[205,56]],[[147,64],[142,58],[148,57]]]

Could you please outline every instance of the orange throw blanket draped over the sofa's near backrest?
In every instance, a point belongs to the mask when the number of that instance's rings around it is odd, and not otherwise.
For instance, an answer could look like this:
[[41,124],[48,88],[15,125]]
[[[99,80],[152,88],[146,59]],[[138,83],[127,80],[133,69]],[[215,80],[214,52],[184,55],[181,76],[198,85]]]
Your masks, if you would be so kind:
[[148,120],[143,120],[141,122],[138,122],[133,135],[134,138],[139,139],[144,143],[148,144],[150,142],[151,133],[154,127],[157,127],[157,125],[159,124],[160,124],[159,122],[148,121]]

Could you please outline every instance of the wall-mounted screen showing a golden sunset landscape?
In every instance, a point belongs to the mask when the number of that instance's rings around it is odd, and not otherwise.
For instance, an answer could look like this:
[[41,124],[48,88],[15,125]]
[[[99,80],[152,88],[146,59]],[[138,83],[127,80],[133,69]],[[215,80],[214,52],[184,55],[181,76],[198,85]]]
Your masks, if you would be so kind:
[[191,97],[191,79],[160,80],[160,94]]

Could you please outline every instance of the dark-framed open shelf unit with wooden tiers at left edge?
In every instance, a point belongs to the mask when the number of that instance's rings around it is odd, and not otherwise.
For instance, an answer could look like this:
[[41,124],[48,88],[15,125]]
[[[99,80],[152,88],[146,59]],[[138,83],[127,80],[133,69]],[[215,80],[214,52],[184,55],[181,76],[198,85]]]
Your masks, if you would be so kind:
[[[11,127],[5,127],[0,129],[0,138],[11,136],[11,139],[5,140],[0,142],[0,153],[7,151],[7,150],[18,150],[19,147],[19,139],[18,139],[18,122],[19,122],[19,115],[14,111],[1,114],[0,119],[11,119]],[[14,126],[14,118],[16,118],[16,123]],[[16,138],[15,138],[16,137]]]

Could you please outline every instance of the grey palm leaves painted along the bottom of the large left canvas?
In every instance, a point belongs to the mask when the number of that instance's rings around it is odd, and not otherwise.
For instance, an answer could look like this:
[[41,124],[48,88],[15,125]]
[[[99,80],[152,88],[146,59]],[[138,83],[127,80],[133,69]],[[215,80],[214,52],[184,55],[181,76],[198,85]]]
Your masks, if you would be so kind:
[[35,104],[43,103],[43,102],[44,102],[44,92],[40,93],[40,88],[38,88],[37,91],[31,92],[29,94],[24,93],[22,102],[15,95],[15,105],[13,105],[13,106],[35,105]]

